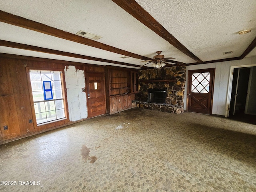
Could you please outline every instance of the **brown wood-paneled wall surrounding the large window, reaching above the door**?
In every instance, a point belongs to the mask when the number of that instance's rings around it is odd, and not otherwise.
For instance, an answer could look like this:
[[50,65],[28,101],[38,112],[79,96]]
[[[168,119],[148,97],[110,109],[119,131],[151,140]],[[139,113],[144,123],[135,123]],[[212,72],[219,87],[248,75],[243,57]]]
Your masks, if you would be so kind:
[[[104,72],[104,66],[79,64],[74,62],[31,58],[26,56],[13,56],[0,54],[0,144],[6,140],[22,138],[42,130],[52,129],[69,124],[67,119],[62,122],[47,124],[47,126],[34,126],[29,123],[33,119],[29,84],[26,68],[60,69],[75,65],[77,69],[85,72]],[[4,130],[4,126],[8,130]]]

